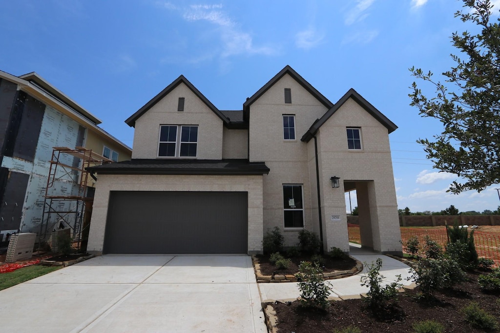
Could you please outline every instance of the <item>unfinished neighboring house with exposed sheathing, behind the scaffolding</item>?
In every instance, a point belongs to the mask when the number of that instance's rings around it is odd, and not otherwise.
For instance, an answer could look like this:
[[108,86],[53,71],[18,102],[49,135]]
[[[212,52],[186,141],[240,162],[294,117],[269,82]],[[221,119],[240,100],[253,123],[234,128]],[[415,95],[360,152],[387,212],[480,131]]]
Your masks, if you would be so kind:
[[[58,228],[62,220],[74,220],[79,211],[74,201],[64,200],[79,192],[76,179],[81,160],[70,155],[61,159],[69,164],[68,174],[75,181],[62,179],[66,172],[59,167],[50,190],[61,200],[47,207],[53,147],[81,147],[106,161],[131,158],[131,149],[100,128],[100,123],[37,73],[14,76],[0,71],[0,243],[17,232],[37,233],[39,241],[47,241],[52,228]],[[93,185],[91,179],[84,184],[85,196],[92,196]],[[47,210],[54,213],[50,218],[43,216]],[[71,210],[75,213],[71,216],[58,214]],[[40,233],[42,224],[46,230]]]

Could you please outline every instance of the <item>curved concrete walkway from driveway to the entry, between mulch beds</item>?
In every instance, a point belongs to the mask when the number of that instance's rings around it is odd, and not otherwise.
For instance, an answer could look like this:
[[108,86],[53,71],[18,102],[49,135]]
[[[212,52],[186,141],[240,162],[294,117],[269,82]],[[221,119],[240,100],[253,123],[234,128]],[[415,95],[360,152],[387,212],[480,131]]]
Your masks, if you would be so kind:
[[[377,258],[382,259],[380,274],[384,276],[383,281],[385,284],[394,282],[397,275],[401,275],[403,285],[408,286],[411,284],[411,282],[406,281],[409,276],[409,267],[407,265],[390,257],[361,249],[360,245],[353,243],[349,243],[349,245],[350,255],[363,263],[363,270],[359,274],[348,278],[328,280],[331,284],[330,297],[342,298],[368,292],[368,287],[362,287],[360,282],[361,277],[366,275],[366,265],[364,263],[369,264]],[[298,283],[259,283],[258,289],[262,302],[292,300],[300,295]]]

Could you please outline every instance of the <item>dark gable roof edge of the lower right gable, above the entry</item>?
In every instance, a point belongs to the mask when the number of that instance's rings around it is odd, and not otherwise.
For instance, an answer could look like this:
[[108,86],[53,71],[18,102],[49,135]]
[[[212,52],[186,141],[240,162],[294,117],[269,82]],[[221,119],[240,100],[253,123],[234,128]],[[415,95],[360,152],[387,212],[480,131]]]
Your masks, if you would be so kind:
[[366,112],[368,112],[373,118],[378,120],[382,125],[384,125],[388,132],[393,132],[397,126],[390,121],[386,116],[384,116],[380,111],[378,111],[373,105],[371,105],[366,99],[364,99],[356,90],[350,88],[339,100],[333,105],[325,114],[319,119],[316,119],[314,123],[309,127],[307,132],[300,139],[301,141],[308,142],[317,133],[319,127],[321,127],[326,120],[328,120],[333,113],[335,113],[349,98],[352,98],[357,104],[359,104]]

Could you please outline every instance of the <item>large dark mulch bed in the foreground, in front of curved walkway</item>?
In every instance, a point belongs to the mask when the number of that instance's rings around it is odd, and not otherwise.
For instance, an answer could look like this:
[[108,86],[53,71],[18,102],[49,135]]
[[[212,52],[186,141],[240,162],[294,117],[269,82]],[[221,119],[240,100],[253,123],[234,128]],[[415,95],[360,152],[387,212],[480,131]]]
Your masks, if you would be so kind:
[[[399,295],[399,315],[389,318],[382,315],[375,318],[364,307],[362,300],[331,302],[326,311],[306,310],[298,302],[291,305],[277,303],[272,305],[278,318],[278,332],[332,332],[347,326],[356,326],[361,332],[414,332],[412,324],[423,320],[439,322],[444,332],[488,332],[470,327],[464,320],[460,309],[469,302],[476,302],[490,315],[500,318],[500,295],[485,294],[479,289],[477,278],[480,272],[468,273],[468,282],[435,294],[436,301],[425,303],[416,298],[419,290],[406,291]],[[491,332],[491,331],[489,331]]]

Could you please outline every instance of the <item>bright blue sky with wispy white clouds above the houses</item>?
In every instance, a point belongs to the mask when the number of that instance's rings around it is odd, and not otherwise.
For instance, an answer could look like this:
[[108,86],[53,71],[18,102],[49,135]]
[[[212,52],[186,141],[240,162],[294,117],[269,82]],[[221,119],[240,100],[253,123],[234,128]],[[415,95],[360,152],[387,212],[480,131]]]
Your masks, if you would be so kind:
[[[500,7],[500,0],[492,2]],[[432,169],[415,143],[442,128],[421,118],[407,96],[409,67],[437,74],[453,65],[451,33],[475,28],[453,17],[461,6],[458,0],[0,0],[0,69],[37,72],[132,146],[133,128],[123,121],[180,74],[217,108],[231,110],[289,64],[330,101],[352,87],[399,127],[389,136],[399,208],[494,210],[498,184],[480,193],[445,192],[456,177]]]

